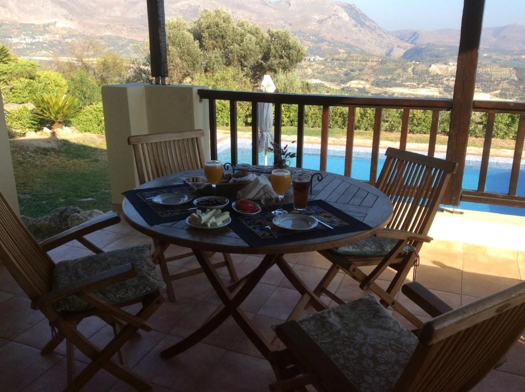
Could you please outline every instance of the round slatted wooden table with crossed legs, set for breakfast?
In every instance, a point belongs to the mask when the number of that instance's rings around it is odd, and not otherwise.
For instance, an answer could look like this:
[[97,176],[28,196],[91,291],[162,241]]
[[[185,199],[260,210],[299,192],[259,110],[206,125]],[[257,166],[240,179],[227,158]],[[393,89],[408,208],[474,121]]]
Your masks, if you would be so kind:
[[[302,282],[282,256],[286,253],[331,249],[370,237],[384,228],[390,220],[392,203],[385,194],[362,181],[333,173],[319,173],[322,174],[323,178],[321,181],[318,181],[314,177],[310,200],[324,200],[346,214],[363,221],[363,223],[371,227],[370,229],[281,243],[277,246],[251,247],[228,227],[202,230],[188,226],[185,220],[150,226],[131,203],[124,199],[122,204],[124,218],[134,229],[152,237],[157,246],[166,247],[167,244],[175,244],[192,249],[203,272],[223,302],[223,305],[203,326],[183,341],[165,349],[161,353],[162,357],[169,358],[185,351],[214,331],[231,315],[261,354],[268,358],[269,353],[272,351],[272,345],[255,329],[248,317],[239,309],[239,306],[255,288],[265,272],[274,264],[277,264],[299,293],[309,295],[309,303],[313,308],[318,311],[326,308],[326,305]],[[182,178],[187,178],[191,174],[202,176],[203,171],[197,170],[170,174],[142,184],[138,188],[182,184]],[[290,188],[283,202],[286,203],[291,200],[291,192]],[[213,268],[206,251],[249,253],[266,256],[255,270],[232,285],[227,286],[220,279],[215,268]]]

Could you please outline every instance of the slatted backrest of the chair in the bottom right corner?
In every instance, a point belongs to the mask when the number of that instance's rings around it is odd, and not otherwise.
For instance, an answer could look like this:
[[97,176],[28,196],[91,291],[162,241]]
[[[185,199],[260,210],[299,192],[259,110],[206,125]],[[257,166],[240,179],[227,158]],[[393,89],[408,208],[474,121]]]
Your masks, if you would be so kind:
[[394,390],[469,390],[525,328],[525,282],[428,321]]

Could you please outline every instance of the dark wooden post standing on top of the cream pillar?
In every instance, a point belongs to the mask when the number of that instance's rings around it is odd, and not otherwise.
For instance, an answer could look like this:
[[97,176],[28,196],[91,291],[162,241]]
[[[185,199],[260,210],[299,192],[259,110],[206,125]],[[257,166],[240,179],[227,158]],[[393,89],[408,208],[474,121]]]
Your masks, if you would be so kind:
[[155,78],[155,84],[166,84],[168,72],[164,0],[148,0],[147,4],[151,76]]

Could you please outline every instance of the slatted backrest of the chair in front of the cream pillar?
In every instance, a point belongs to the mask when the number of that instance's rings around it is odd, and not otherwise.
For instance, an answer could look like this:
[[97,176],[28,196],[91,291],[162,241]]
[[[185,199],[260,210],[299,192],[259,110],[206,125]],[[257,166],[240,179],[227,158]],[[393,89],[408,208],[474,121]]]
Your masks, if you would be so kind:
[[203,130],[128,137],[141,184],[167,174],[204,167]]

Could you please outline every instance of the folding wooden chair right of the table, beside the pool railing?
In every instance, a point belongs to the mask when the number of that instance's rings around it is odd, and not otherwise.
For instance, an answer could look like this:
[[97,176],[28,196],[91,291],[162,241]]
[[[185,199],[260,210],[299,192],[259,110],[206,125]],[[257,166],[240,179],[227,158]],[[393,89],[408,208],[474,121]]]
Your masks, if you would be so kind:
[[[320,251],[333,264],[313,292],[328,295],[335,302],[344,303],[328,290],[328,285],[339,270],[381,298],[385,306],[392,306],[412,323],[417,317],[395,301],[408,272],[418,259],[419,249],[430,242],[428,230],[443,197],[451,174],[456,172],[455,162],[388,148],[386,161],[377,179],[376,187],[385,193],[394,206],[393,216],[385,229],[373,237],[336,249]],[[375,266],[370,274],[360,267]],[[386,290],[375,280],[387,269],[396,271]],[[308,294],[303,295],[292,312],[291,318],[308,304]],[[421,322],[419,322],[421,323]]]

